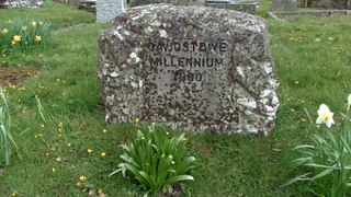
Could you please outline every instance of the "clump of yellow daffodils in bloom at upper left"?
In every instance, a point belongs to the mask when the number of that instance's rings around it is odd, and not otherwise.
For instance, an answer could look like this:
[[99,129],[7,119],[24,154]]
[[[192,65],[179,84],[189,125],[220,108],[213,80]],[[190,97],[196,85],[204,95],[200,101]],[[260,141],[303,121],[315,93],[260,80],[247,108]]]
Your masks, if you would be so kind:
[[44,48],[50,42],[50,23],[15,18],[0,22],[0,53]]

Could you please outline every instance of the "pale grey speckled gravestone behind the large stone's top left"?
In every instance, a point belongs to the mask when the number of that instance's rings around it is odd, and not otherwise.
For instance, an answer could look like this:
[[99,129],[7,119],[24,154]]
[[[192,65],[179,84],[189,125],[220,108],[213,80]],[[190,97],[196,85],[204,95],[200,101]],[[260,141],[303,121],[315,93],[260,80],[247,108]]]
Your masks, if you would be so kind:
[[97,22],[111,22],[115,16],[123,14],[125,8],[125,0],[98,0],[95,4]]

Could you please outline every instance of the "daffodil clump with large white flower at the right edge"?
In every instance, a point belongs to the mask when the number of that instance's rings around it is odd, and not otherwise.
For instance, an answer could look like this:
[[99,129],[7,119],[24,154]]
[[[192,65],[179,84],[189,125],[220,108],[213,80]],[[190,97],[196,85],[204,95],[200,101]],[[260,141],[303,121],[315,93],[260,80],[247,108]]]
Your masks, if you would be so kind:
[[[349,107],[350,105],[351,95]],[[293,149],[294,152],[297,152],[298,158],[291,162],[292,169],[304,166],[309,172],[290,179],[283,186],[297,181],[309,181],[316,184],[314,193],[318,196],[350,196],[351,130],[349,121],[351,119],[348,115],[342,114],[344,123],[330,129],[330,123],[333,124],[333,113],[326,105],[324,107],[325,111],[318,111],[319,117],[316,123],[325,123],[329,129],[322,128],[312,135],[312,144],[297,146]]]

